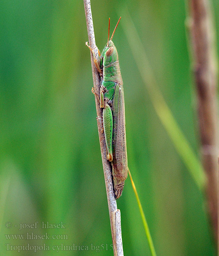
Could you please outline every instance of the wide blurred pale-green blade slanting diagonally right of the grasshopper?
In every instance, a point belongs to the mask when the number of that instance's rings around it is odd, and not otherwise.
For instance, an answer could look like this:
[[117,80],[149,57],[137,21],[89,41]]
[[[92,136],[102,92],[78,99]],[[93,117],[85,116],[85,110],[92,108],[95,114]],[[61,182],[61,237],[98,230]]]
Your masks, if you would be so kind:
[[183,132],[174,119],[171,110],[166,104],[159,87],[157,86],[157,82],[153,74],[153,70],[150,67],[144,45],[138,36],[134,23],[132,22],[131,16],[127,9],[123,10],[122,17],[124,21],[121,24],[123,25],[130,49],[136,61],[142,80],[146,85],[145,87],[147,89],[147,93],[149,94],[155,111],[160,118],[161,123],[164,125],[170,139],[172,139],[178,154],[183,159],[185,166],[189,170],[199,189],[202,191],[206,177],[201,162],[189,145]]

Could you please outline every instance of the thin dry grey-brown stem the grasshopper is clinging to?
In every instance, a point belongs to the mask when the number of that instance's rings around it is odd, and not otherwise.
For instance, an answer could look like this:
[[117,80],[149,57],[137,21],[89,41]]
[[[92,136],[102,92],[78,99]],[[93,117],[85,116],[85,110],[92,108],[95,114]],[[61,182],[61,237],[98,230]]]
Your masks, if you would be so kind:
[[[95,51],[96,59],[98,59],[98,51],[95,42],[95,34],[93,29],[93,20],[91,13],[91,1],[84,0],[84,10],[88,30],[89,45]],[[97,71],[95,64],[93,62],[93,54],[91,53],[91,66],[93,74],[93,86],[97,94],[100,92],[100,75]],[[111,166],[107,161],[105,136],[103,131],[103,111],[100,108],[100,102],[95,95],[96,111],[97,111],[97,128],[100,139],[100,150],[103,162],[103,171],[105,178],[105,185],[107,191],[107,201],[110,213],[110,224],[112,232],[112,241],[114,245],[114,256],[123,256],[123,246],[122,246],[122,230],[121,230],[121,216],[120,210],[117,209],[116,199],[114,196],[114,188],[112,182]]]

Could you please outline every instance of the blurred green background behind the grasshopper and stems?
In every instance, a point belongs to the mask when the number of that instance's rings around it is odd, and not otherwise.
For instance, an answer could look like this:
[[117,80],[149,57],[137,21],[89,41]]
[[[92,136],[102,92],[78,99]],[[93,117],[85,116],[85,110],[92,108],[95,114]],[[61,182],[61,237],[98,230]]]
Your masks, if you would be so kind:
[[[100,50],[108,18],[112,33],[128,8],[165,101],[199,158],[184,1],[91,4]],[[213,6],[218,14],[218,0]],[[0,16],[0,254],[113,255],[83,1],[1,0]],[[114,43],[124,83],[128,165],[155,250],[159,256],[216,255],[205,200],[142,90],[123,22]],[[129,177],[117,204],[124,255],[150,255]],[[36,221],[37,229],[18,230],[20,223]],[[63,222],[65,229],[41,229],[42,221]],[[27,232],[67,234],[68,240],[5,237]],[[5,244],[28,243],[50,251],[6,251]],[[81,250],[53,251],[64,243]]]

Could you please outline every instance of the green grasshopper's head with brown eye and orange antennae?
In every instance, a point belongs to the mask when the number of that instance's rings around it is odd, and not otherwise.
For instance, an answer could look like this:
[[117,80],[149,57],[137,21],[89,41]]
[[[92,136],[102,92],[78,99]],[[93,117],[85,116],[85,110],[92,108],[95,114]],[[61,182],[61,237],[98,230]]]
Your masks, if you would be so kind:
[[120,19],[121,19],[121,17],[119,18],[119,20],[116,24],[116,27],[115,27],[115,29],[112,33],[112,36],[110,38],[110,18],[109,18],[108,40],[107,40],[107,44],[105,45],[105,47],[103,49],[103,52],[101,54],[101,56],[102,56],[102,58],[100,60],[100,66],[101,67],[105,67],[105,66],[110,65],[110,64],[114,63],[115,61],[119,60],[118,53],[117,53],[116,47],[115,47],[115,45],[112,41],[112,38],[114,36],[114,33],[116,31],[116,28],[119,24]]

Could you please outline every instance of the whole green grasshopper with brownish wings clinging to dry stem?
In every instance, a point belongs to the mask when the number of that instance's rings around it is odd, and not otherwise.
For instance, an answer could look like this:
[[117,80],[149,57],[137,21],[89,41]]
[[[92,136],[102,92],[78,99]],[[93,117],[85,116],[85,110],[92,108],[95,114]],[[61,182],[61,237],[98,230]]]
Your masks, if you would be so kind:
[[[108,26],[108,40],[102,53],[98,49],[99,59],[95,57],[94,50],[88,45],[93,53],[94,63],[100,73],[100,96],[92,88],[103,108],[103,127],[107,146],[107,159],[112,165],[115,197],[122,195],[124,181],[128,176],[127,150],[126,150],[126,125],[123,81],[119,67],[119,58],[116,47],[112,42],[116,27],[110,38],[110,18]],[[109,40],[110,39],[110,40]]]

